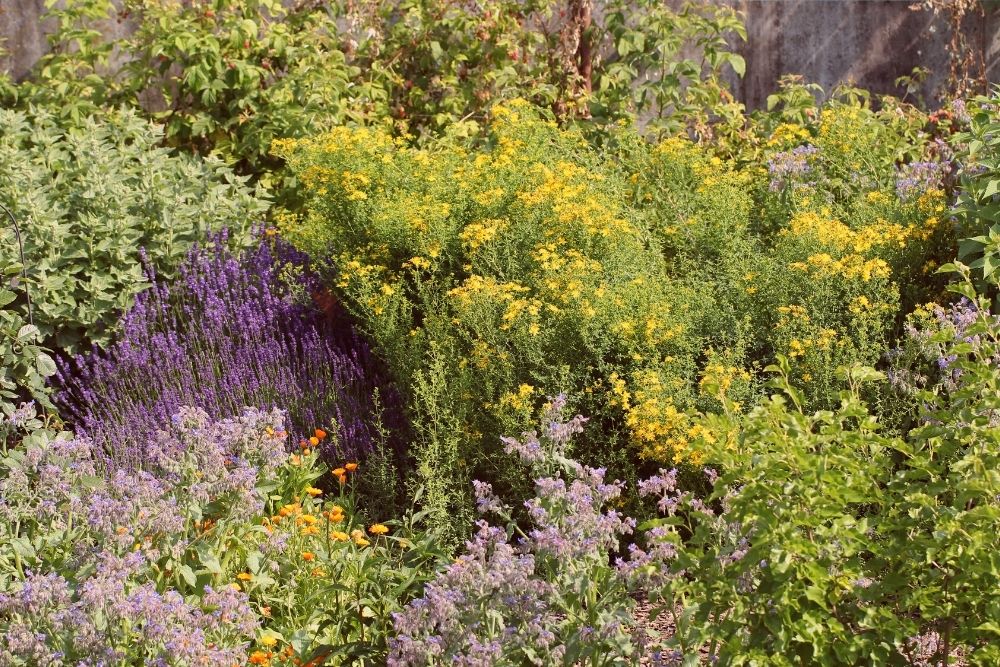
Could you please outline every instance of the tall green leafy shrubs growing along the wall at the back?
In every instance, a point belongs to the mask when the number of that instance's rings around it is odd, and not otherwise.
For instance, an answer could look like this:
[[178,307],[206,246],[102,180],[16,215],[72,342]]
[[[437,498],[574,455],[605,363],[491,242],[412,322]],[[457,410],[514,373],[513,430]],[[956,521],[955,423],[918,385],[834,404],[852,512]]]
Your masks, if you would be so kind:
[[[70,0],[50,13],[59,28],[19,104],[78,122],[141,101],[170,146],[219,155],[283,200],[294,183],[269,173],[275,138],[348,122],[433,135],[512,97],[564,118],[635,112],[676,129],[681,112],[705,120],[727,99],[727,65],[745,67],[727,42],[746,36],[739,15],[704,3]],[[135,32],[103,39],[107,20]]]

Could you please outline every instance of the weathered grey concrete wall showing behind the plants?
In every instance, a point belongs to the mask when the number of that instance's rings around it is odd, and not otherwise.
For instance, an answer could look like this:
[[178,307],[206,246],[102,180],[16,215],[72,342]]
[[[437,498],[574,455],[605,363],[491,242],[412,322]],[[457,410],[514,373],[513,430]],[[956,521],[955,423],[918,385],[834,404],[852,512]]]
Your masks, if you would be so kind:
[[[933,72],[922,91],[928,101],[947,77],[947,25],[910,10],[908,0],[726,1],[746,15],[748,40],[740,51],[747,74],[732,83],[750,108],[765,104],[782,74],[801,74],[826,91],[853,82],[899,95],[896,78],[922,65]],[[0,70],[21,78],[44,53],[43,10],[44,0],[0,0],[0,39],[10,51]],[[124,23],[106,26],[113,35],[125,29]],[[990,80],[1000,80],[1000,9],[970,20],[966,33],[984,54]]]

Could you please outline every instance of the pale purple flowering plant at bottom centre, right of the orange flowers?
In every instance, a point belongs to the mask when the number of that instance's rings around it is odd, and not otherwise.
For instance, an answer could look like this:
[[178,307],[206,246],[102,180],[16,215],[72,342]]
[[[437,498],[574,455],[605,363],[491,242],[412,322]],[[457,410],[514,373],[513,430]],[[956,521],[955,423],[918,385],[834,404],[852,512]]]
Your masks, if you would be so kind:
[[390,665],[613,665],[637,657],[627,629],[632,601],[609,557],[634,522],[602,510],[622,483],[566,456],[585,420],[563,421],[564,407],[564,397],[551,402],[541,434],[504,439],[538,475],[525,503],[532,527],[518,528],[490,485],[475,482],[479,510],[505,518],[507,528],[480,521],[465,553],[395,615]]

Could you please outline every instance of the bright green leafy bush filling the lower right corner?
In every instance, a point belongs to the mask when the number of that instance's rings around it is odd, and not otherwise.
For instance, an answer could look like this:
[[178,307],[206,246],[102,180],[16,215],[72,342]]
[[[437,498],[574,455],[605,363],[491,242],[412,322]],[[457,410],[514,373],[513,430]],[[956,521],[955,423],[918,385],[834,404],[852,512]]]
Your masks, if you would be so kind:
[[[802,411],[782,363],[772,397],[744,418],[709,418],[714,491],[675,473],[648,482],[668,518],[634,564],[675,616],[671,650],[724,664],[968,664],[998,659],[996,371],[1000,320],[977,301],[926,312],[892,381],[918,407],[902,437],[859,399],[870,369],[832,411]],[[902,362],[897,362],[902,363]],[[738,435],[737,435],[738,433]],[[679,608],[679,609],[678,609]]]

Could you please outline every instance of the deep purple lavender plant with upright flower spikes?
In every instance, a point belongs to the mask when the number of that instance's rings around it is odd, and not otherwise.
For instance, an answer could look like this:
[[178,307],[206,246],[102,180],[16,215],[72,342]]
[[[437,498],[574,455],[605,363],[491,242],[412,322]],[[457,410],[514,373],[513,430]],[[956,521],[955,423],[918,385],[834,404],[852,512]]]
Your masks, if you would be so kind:
[[241,257],[224,243],[193,250],[178,281],[137,298],[117,342],[62,361],[63,415],[116,463],[148,460],[151,437],[182,405],[215,418],[280,407],[297,436],[330,427],[329,457],[368,452],[374,394],[398,427],[395,394],[366,344],[309,301],[304,265],[280,241]]

